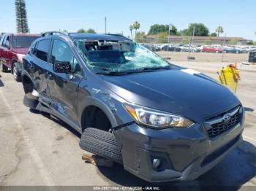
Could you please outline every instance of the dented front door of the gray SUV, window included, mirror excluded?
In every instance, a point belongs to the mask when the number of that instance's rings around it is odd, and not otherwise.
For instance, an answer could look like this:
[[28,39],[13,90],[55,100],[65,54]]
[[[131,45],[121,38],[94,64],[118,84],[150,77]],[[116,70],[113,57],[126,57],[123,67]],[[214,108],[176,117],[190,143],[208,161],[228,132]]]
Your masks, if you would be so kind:
[[78,63],[78,59],[75,58],[69,45],[61,39],[53,40],[50,62],[52,64],[69,62],[72,65],[72,74],[56,73],[51,67],[52,78],[47,80],[50,90],[55,87],[54,92],[50,91],[55,109],[78,124],[78,88],[83,79],[80,63]]

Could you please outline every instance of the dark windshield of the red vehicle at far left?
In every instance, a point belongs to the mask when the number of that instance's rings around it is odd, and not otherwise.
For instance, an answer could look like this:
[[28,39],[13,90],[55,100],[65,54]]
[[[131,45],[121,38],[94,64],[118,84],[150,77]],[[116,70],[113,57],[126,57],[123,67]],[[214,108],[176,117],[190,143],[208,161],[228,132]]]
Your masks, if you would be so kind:
[[12,47],[14,48],[27,48],[39,36],[12,36]]

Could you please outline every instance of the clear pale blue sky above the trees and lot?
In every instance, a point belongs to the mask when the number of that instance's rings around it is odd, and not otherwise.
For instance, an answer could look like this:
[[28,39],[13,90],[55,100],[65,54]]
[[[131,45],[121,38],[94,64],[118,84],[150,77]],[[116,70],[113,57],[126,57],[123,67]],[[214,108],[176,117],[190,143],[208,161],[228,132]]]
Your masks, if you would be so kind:
[[[15,32],[15,0],[1,0],[0,32]],[[138,31],[151,25],[173,24],[182,30],[189,23],[204,23],[210,32],[222,26],[221,36],[239,36],[256,40],[255,0],[26,0],[31,33],[69,32],[94,28],[97,33],[129,35],[136,20]]]

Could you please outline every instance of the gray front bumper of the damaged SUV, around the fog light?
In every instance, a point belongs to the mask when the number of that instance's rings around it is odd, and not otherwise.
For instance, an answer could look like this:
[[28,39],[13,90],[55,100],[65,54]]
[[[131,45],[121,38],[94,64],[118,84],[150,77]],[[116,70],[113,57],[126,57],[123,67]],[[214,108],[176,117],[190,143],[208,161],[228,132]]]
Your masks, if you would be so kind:
[[[192,180],[206,173],[242,141],[243,121],[209,139],[203,125],[153,130],[133,124],[116,130],[121,138],[124,168],[148,182]],[[154,159],[161,165],[155,170]]]

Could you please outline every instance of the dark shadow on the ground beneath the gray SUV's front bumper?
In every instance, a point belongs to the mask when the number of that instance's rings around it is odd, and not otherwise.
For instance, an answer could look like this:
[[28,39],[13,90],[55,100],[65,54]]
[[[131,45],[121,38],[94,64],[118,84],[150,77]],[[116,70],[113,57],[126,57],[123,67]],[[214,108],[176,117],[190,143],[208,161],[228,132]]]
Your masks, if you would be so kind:
[[256,148],[243,141],[230,155],[217,166],[198,179],[188,182],[148,183],[129,174],[122,165],[113,168],[99,168],[99,172],[113,182],[123,186],[232,186],[238,190],[243,184],[256,176]]

